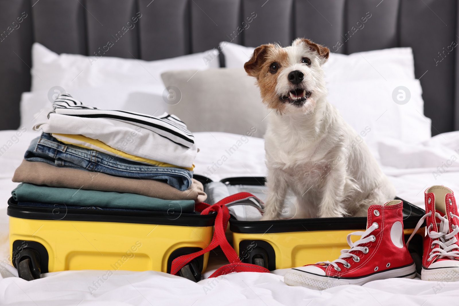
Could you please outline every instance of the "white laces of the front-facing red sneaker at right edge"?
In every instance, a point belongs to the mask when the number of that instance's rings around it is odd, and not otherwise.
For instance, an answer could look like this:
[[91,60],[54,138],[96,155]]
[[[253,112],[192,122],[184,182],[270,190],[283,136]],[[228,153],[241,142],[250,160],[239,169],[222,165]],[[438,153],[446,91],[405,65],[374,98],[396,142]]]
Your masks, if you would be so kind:
[[[449,213],[451,217],[455,217],[459,219],[459,216],[454,215],[453,213]],[[430,217],[432,215],[432,212],[429,211],[426,213],[418,222],[416,227],[413,230],[413,234],[409,236],[408,241],[406,242],[406,246],[408,247],[409,241],[411,238],[413,238],[414,234],[418,231],[418,229],[421,227],[422,223],[424,222],[426,217]],[[451,233],[449,232],[449,221],[447,217],[442,217],[438,212],[435,213],[435,217],[439,218],[441,222],[438,224],[438,232],[436,231],[431,231],[431,228],[433,227],[432,224],[430,224],[427,227],[427,235],[431,239],[435,239],[432,241],[431,244],[431,252],[429,253],[429,258],[427,258],[427,261],[430,261],[434,256],[438,256],[438,258],[443,258],[443,257],[448,257],[450,259],[459,259],[459,245],[456,244],[457,239],[455,235],[459,233],[459,226],[452,225],[451,227],[453,228],[453,231]],[[434,248],[434,245],[437,245],[437,247]]]

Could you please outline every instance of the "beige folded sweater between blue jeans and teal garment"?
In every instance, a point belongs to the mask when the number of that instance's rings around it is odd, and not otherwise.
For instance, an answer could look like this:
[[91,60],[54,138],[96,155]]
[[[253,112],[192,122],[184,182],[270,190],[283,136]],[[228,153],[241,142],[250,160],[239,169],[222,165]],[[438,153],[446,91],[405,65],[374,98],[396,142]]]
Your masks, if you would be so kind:
[[123,178],[100,172],[55,167],[39,161],[23,160],[14,172],[12,181],[50,187],[133,193],[163,200],[195,200],[199,203],[207,199],[204,187],[194,178],[190,188],[180,191],[153,179]]

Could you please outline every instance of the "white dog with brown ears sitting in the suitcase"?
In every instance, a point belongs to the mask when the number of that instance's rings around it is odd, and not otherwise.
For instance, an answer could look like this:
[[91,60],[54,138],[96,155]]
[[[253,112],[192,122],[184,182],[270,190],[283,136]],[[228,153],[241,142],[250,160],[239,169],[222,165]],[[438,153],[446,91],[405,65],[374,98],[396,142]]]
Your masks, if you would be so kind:
[[296,198],[295,217],[366,216],[370,205],[395,197],[363,139],[326,100],[322,65],[329,54],[322,45],[295,39],[285,48],[261,45],[244,64],[271,109],[264,220],[282,217],[288,190]]

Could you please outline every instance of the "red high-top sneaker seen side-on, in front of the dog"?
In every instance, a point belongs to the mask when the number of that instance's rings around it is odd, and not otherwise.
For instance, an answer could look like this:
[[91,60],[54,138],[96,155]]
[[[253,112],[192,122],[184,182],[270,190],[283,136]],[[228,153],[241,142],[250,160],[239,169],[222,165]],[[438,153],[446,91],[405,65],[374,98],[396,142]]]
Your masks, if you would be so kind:
[[[291,286],[327,289],[362,285],[376,279],[414,278],[416,268],[403,239],[403,202],[392,200],[368,208],[367,230],[347,235],[349,250],[334,261],[293,268],[284,276]],[[351,235],[361,235],[356,242]]]

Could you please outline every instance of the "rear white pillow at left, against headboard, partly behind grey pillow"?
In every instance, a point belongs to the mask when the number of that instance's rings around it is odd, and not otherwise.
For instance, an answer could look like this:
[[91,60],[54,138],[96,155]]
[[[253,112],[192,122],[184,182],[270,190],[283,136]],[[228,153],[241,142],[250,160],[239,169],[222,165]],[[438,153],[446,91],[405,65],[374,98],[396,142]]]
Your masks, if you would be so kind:
[[[109,51],[108,51],[109,52]],[[107,53],[108,53],[107,52]],[[156,86],[158,93],[164,89],[161,73],[174,69],[218,68],[217,60],[208,61],[207,52],[179,56],[159,61],[143,61],[118,57],[95,57],[61,54],[39,43],[32,46],[32,89],[49,90],[61,86],[68,93],[72,89],[103,86]]]

